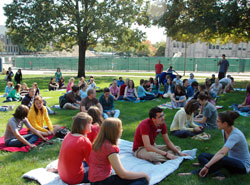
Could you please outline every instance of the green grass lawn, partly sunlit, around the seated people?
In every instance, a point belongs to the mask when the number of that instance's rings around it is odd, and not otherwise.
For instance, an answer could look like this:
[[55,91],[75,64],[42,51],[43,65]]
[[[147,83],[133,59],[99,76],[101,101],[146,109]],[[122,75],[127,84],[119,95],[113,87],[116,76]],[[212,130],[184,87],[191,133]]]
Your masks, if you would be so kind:
[[[125,74],[125,73],[124,73]],[[69,74],[66,76],[66,82],[70,78]],[[91,74],[92,75],[92,74]],[[120,76],[120,74],[117,74]],[[143,75],[142,75],[143,76]],[[48,83],[51,75],[24,75],[24,82],[31,86],[33,82],[37,82],[39,84],[39,88],[41,90],[41,95],[43,97],[51,97],[47,99],[47,103],[49,106],[58,104],[58,98],[62,95],[62,91],[47,91]],[[5,82],[3,81],[3,76],[0,76],[0,94],[3,94],[5,88]],[[97,86],[104,88],[107,87],[114,77],[96,77]],[[132,78],[135,80],[136,85],[139,84],[140,77]],[[78,83],[78,79],[76,80]],[[236,87],[245,87],[248,82],[236,82]],[[97,96],[99,97],[100,94]],[[220,111],[229,109],[232,103],[241,103],[244,100],[245,93],[244,92],[234,92],[231,94],[222,95],[222,97],[218,100],[218,105],[223,105],[224,109]],[[3,105],[2,101],[4,98],[0,98],[0,105]],[[131,102],[115,102],[115,107],[120,109],[121,115],[120,119],[123,122],[123,135],[122,139],[126,139],[129,141],[133,141],[134,132],[137,125],[141,120],[148,117],[148,111],[151,107],[157,106],[161,103],[165,103],[167,100],[157,99],[154,101],[142,102],[142,103],[131,103]],[[20,102],[10,102],[6,103],[6,105],[15,105],[18,106]],[[128,108],[129,107],[129,108]],[[56,115],[50,116],[53,124],[64,125],[71,128],[72,117],[78,111],[70,111],[70,110],[55,110]],[[8,119],[11,118],[11,114],[13,112],[0,112],[0,136],[4,135],[4,131],[6,128],[6,123]],[[164,110],[165,113],[165,121],[167,127],[170,128],[170,124],[173,120],[173,117],[176,113],[176,110]],[[238,127],[246,136],[248,144],[250,143],[250,124],[249,118],[239,117],[236,120],[235,126]],[[208,131],[211,134],[211,140],[203,142],[192,140],[191,138],[180,139],[169,134],[170,139],[174,144],[180,146],[182,149],[192,149],[197,148],[197,156],[201,152],[209,152],[215,153],[223,146],[221,131],[213,130]],[[163,144],[163,140],[161,137],[157,138],[156,141],[158,144]],[[27,181],[21,178],[21,176],[28,172],[29,170],[35,168],[44,168],[51,161],[58,159],[59,151],[60,151],[60,142],[54,142],[51,146],[44,146],[43,148],[37,147],[36,149],[31,150],[28,153],[9,153],[9,152],[1,152],[0,151],[0,184],[36,184],[33,181]],[[196,160],[195,160],[196,161]],[[179,177],[177,173],[179,172],[188,172],[190,170],[195,169],[192,167],[192,162],[194,161],[184,161],[180,168],[172,173],[170,176],[165,178],[160,184],[226,184],[226,185],[235,185],[235,184],[249,184],[250,176],[249,175],[228,175],[224,181],[216,181],[211,178],[201,179],[197,176],[188,176],[188,177]],[[161,173],[161,172],[159,172]]]

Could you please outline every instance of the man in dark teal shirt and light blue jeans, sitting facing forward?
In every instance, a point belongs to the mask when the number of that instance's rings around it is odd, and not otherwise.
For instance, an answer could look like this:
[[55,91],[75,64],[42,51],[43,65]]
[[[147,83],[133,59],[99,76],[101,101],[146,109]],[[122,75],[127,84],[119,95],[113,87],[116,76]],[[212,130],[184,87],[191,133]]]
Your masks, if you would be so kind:
[[109,88],[104,88],[104,94],[100,96],[99,102],[102,105],[104,119],[112,116],[118,118],[120,116],[120,110],[114,109],[114,98],[110,95]]

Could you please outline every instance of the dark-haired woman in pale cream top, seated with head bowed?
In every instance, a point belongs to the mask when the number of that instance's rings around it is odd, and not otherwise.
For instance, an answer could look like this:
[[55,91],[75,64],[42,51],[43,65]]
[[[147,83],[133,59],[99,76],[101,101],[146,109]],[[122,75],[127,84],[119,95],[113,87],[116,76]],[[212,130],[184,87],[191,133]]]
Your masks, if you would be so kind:
[[202,132],[202,128],[193,122],[194,112],[200,108],[197,100],[190,100],[185,108],[176,112],[174,120],[170,126],[170,131],[174,136],[186,138],[192,137]]

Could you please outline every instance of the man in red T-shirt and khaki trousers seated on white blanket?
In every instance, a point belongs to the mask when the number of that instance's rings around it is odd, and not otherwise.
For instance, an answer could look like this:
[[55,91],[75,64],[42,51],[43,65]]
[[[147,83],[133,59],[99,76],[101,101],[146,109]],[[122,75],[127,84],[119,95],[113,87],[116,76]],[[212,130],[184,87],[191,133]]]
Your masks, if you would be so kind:
[[[161,133],[165,145],[156,145],[155,138]],[[134,155],[151,162],[164,162],[175,159],[177,155],[185,156],[180,147],[175,146],[167,134],[164,112],[159,107],[149,111],[149,118],[143,120],[135,131],[133,143]]]

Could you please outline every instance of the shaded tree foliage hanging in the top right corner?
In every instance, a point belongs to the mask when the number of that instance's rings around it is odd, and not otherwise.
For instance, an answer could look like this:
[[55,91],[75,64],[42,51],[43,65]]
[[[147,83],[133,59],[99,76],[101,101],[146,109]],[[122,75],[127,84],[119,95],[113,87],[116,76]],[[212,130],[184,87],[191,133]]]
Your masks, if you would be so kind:
[[154,24],[165,27],[168,36],[175,40],[250,41],[247,0],[165,0],[162,3],[165,13]]

